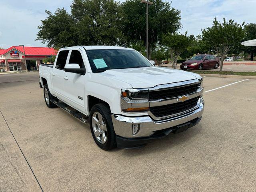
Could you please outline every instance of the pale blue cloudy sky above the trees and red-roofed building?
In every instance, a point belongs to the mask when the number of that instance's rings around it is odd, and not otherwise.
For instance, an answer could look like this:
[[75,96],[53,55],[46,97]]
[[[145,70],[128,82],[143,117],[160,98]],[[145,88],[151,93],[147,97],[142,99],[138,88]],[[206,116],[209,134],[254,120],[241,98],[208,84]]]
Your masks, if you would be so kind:
[[[121,2],[124,0],[121,0]],[[169,0],[181,11],[181,33],[195,36],[212,26],[212,21],[232,19],[235,22],[256,23],[256,0]],[[72,0],[1,0],[0,47],[46,46],[36,41],[38,26],[46,18],[45,10],[54,12],[64,7],[70,12]]]

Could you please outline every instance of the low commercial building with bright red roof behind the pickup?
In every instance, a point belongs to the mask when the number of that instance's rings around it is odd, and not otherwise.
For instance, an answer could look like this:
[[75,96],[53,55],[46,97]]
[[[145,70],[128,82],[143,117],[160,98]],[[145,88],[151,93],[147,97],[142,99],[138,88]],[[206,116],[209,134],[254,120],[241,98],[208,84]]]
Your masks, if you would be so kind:
[[12,46],[0,49],[0,69],[4,71],[26,70],[25,57],[28,70],[38,70],[43,60],[57,54],[57,50],[47,47]]

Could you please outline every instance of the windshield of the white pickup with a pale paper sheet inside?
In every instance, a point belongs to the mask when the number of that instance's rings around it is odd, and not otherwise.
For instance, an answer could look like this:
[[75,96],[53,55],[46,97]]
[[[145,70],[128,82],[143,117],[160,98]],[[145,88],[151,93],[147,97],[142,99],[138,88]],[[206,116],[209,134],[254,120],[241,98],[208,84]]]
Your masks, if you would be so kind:
[[92,72],[103,72],[108,69],[126,69],[153,66],[135,50],[98,49],[86,50]]

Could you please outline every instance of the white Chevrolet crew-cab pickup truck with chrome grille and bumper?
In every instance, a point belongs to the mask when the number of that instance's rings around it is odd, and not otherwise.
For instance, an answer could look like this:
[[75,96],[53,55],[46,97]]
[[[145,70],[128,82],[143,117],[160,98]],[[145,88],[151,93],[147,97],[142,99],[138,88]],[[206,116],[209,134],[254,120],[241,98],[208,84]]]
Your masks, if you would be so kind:
[[137,148],[196,125],[202,118],[202,77],[156,67],[132,48],[61,48],[53,65],[39,67],[49,108],[89,122],[96,144]]

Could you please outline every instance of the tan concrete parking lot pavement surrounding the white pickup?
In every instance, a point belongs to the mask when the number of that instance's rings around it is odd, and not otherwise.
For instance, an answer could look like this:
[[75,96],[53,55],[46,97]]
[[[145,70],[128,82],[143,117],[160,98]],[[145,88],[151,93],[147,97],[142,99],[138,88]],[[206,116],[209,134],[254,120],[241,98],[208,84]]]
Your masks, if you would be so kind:
[[[205,77],[204,91],[238,81]],[[185,132],[108,152],[96,146],[88,125],[46,107],[38,80],[0,83],[0,95],[0,110],[35,174],[0,118],[0,146],[12,152],[20,173],[3,164],[0,191],[40,191],[35,178],[45,192],[256,190],[256,80],[204,93],[202,120]]]

